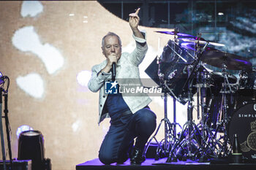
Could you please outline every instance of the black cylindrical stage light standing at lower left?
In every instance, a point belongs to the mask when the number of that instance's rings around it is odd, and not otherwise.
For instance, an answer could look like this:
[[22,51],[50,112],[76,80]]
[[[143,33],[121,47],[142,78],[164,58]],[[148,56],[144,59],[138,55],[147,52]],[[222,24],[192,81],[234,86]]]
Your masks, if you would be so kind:
[[18,160],[32,160],[32,170],[50,169],[50,159],[45,160],[44,139],[41,132],[23,131],[20,134]]

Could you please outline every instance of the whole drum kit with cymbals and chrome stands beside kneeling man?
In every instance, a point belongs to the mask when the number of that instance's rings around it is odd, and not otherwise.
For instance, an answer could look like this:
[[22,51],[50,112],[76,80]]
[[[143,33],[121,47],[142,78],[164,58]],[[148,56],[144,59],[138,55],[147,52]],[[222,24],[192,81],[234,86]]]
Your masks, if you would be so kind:
[[[165,123],[165,139],[157,142],[156,160],[161,156],[167,157],[167,163],[228,158],[235,134],[244,158],[256,160],[256,69],[252,63],[239,55],[215,49],[224,45],[200,36],[177,30],[157,32],[174,35],[174,39],[167,42],[162,54],[146,69],[165,93],[165,117],[145,152]],[[222,71],[213,72],[207,65]],[[228,70],[238,71],[239,78]],[[173,123],[167,118],[167,94],[173,97]],[[176,101],[187,104],[187,122],[178,134]],[[198,124],[192,116],[195,110],[200,118]]]

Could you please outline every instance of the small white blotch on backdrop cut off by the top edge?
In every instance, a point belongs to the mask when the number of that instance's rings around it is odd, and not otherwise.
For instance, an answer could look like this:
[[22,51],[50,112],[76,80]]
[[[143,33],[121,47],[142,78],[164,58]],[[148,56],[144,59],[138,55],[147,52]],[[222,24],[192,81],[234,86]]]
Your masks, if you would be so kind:
[[35,17],[43,10],[43,6],[39,1],[23,1],[21,5],[20,15],[25,17]]

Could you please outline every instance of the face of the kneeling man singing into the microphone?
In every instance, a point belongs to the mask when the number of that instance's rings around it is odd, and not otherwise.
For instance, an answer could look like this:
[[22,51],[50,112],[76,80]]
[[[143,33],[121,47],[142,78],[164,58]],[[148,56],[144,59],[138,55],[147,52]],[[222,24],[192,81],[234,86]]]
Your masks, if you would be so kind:
[[102,53],[106,58],[108,58],[110,54],[115,54],[118,60],[121,57],[121,45],[119,45],[117,36],[106,36],[104,41]]

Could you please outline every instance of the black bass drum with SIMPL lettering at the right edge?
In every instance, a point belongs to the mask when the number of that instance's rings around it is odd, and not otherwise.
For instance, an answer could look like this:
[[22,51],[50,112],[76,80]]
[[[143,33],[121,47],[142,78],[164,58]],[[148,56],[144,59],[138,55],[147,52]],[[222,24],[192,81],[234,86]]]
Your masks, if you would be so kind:
[[241,151],[244,157],[256,162],[256,103],[245,104],[232,116],[228,125],[228,136],[233,142],[238,134]]

